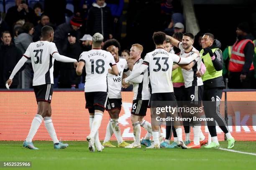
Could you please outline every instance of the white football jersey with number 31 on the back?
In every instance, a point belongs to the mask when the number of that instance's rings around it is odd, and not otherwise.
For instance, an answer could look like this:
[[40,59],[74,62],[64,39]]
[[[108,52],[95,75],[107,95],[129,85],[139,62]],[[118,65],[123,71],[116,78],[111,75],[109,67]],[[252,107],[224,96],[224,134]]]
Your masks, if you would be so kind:
[[54,42],[37,41],[28,46],[23,56],[31,59],[34,71],[33,86],[54,84],[54,52],[58,52]]

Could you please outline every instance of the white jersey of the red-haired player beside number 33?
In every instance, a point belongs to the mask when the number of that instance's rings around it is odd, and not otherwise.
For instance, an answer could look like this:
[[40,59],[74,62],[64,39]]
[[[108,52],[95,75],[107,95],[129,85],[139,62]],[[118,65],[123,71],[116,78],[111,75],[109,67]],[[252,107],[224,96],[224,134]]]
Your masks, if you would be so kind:
[[[142,63],[142,58],[138,59],[133,65],[133,71],[138,69]],[[144,70],[141,74],[143,74],[142,82],[133,83],[133,100],[149,100],[148,69]]]

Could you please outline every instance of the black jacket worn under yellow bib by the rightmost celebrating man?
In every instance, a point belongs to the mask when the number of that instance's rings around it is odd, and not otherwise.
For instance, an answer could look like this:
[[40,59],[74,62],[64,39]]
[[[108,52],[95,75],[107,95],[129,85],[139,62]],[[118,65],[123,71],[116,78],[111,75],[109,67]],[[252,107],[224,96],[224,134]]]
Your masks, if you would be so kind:
[[[210,46],[210,49],[214,49],[214,48],[220,49],[220,47],[221,47],[220,41],[214,40],[212,46]],[[220,71],[223,68],[222,52],[221,52],[221,50],[215,50],[215,52],[213,54],[215,56],[215,59],[212,60],[213,67],[215,68],[216,71]],[[203,53],[203,55],[205,55],[205,53]],[[203,60],[202,60],[202,62],[203,62]],[[224,83],[222,76],[204,81],[204,89],[205,90],[208,90],[211,88],[224,88],[224,87],[225,87],[225,83]]]

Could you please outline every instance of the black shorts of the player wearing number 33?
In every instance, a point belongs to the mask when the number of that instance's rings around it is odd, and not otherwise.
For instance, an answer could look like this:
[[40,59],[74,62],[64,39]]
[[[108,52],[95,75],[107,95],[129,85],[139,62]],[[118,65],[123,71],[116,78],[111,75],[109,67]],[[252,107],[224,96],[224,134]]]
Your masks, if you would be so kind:
[[174,92],[159,92],[150,95],[149,107],[164,107],[168,104],[161,101],[173,101],[169,105],[177,105]]

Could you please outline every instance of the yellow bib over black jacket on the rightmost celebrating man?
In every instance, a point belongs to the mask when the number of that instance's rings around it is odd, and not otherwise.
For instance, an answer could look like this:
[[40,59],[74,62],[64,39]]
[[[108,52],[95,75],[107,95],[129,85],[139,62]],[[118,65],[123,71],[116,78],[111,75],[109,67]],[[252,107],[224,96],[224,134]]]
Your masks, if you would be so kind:
[[[214,53],[215,50],[220,50],[220,49],[214,48],[214,49],[212,49],[212,52]],[[212,59],[210,57],[210,54],[207,53],[206,55],[202,55],[203,52],[204,52],[204,50],[202,49],[200,51],[200,55],[202,57],[202,60],[204,61],[204,64],[205,64],[205,67],[206,67],[206,71],[205,71],[205,74],[202,75],[202,80],[205,81],[205,80],[210,80],[210,79],[222,76],[222,70],[220,70],[220,71],[216,71],[215,70],[215,68],[214,68],[214,66],[212,64]]]

